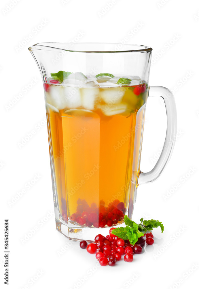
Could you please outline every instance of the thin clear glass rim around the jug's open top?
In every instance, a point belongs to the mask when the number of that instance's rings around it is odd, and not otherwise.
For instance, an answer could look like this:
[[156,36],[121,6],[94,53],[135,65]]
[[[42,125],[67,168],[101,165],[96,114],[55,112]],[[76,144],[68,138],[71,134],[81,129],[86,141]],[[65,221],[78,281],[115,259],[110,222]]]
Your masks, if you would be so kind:
[[[63,47],[64,48],[63,48]],[[82,49],[81,47],[102,47],[103,49]],[[115,47],[115,49],[106,49],[105,47]],[[79,49],[78,49],[79,47]],[[125,49],[126,47],[126,49]],[[76,49],[75,49],[76,48]],[[134,48],[134,49],[133,49]],[[37,50],[46,50],[46,51],[55,51],[55,50],[64,50],[69,52],[82,52],[82,53],[121,53],[121,52],[150,52],[152,48],[145,45],[137,44],[122,44],[122,43],[111,43],[111,42],[41,42],[36,43],[30,46],[29,51]],[[118,50],[117,50],[118,49]]]

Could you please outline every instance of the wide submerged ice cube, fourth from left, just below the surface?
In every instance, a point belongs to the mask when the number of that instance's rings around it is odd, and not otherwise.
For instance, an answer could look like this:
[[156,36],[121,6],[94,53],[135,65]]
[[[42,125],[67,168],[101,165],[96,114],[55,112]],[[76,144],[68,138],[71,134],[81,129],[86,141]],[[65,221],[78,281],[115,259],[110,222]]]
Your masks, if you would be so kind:
[[[114,84],[115,85],[115,84]],[[122,98],[125,93],[125,88],[104,88],[100,91],[100,97],[105,103],[117,104],[122,101]]]

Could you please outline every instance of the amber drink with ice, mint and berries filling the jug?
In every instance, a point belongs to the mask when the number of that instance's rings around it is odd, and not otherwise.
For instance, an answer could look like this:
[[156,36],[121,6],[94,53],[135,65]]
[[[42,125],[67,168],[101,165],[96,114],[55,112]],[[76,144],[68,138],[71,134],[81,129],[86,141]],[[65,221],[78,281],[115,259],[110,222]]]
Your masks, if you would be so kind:
[[111,227],[132,214],[148,85],[71,75],[44,84],[58,210],[65,222]]

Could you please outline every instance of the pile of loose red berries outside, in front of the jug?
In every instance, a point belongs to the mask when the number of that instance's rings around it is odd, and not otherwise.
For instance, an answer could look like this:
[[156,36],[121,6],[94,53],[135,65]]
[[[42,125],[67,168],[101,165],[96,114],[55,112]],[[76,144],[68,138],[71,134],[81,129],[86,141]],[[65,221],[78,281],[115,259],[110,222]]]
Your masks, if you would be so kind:
[[[119,237],[111,234],[112,230],[109,230],[109,235],[106,237],[98,234],[95,236],[93,243],[88,244],[86,241],[80,242],[80,247],[86,249],[88,253],[95,254],[97,260],[101,266],[115,266],[115,262],[121,260],[124,255],[124,261],[132,262],[133,254],[141,254],[142,247],[145,245],[145,239],[139,238],[135,245],[131,245],[129,240],[123,240]],[[145,236],[145,235],[144,235]],[[146,243],[152,245],[154,243],[153,234],[146,234]]]

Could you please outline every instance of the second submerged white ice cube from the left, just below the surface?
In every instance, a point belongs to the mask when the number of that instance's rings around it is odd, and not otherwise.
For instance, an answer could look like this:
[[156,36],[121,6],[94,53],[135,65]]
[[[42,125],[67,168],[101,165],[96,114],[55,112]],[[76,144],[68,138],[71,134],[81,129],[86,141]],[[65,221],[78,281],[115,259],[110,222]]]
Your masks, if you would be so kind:
[[65,99],[65,107],[68,108],[78,108],[81,106],[81,95],[80,95],[80,89],[77,87],[69,87],[65,86],[64,88],[64,99]]

